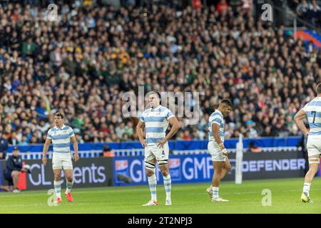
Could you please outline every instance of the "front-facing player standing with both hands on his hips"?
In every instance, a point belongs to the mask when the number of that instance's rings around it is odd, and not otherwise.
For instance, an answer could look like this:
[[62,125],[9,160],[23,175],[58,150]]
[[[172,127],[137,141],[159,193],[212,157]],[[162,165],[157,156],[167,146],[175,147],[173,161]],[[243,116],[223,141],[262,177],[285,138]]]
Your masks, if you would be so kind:
[[[175,135],[180,128],[178,120],[173,113],[161,105],[161,96],[156,91],[149,95],[149,104],[151,108],[146,109],[138,122],[136,132],[138,138],[145,147],[145,167],[148,176],[148,185],[151,190],[151,200],[143,206],[158,205],[156,197],[156,162],[162,172],[164,187],[166,193],[165,205],[171,205],[170,191],[171,179],[168,170],[168,140]],[[170,123],[170,132],[165,135],[166,129]],[[143,128],[146,130],[146,140],[143,138]]]

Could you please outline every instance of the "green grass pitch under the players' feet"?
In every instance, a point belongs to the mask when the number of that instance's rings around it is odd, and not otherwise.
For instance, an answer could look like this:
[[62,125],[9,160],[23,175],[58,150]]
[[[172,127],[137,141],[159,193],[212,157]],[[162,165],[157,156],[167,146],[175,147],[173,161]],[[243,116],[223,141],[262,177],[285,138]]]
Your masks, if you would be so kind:
[[[279,180],[248,180],[242,185],[221,182],[220,196],[230,202],[210,202],[205,193],[209,186],[202,184],[172,185],[172,206],[165,206],[163,185],[158,185],[157,207],[142,207],[150,199],[148,185],[137,187],[100,187],[73,189],[74,202],[63,202],[56,207],[47,204],[47,191],[0,192],[0,213],[320,213],[321,178],[312,182],[310,196],[313,204],[302,203],[303,178]],[[65,187],[65,186],[63,186]],[[263,189],[272,192],[272,206],[263,207]],[[63,192],[63,190],[62,190]]]

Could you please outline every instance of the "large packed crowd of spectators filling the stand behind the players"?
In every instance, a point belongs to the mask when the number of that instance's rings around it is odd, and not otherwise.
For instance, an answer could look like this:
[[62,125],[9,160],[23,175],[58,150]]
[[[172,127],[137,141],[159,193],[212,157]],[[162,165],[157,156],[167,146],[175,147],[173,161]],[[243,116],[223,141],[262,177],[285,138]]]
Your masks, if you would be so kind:
[[0,6],[0,132],[13,145],[44,142],[57,110],[80,142],[136,140],[121,97],[138,86],[200,92],[200,121],[178,118],[178,140],[207,138],[222,98],[234,105],[225,138],[298,135],[293,117],[321,77],[320,48],[241,7],[64,4],[51,22],[37,6]]

